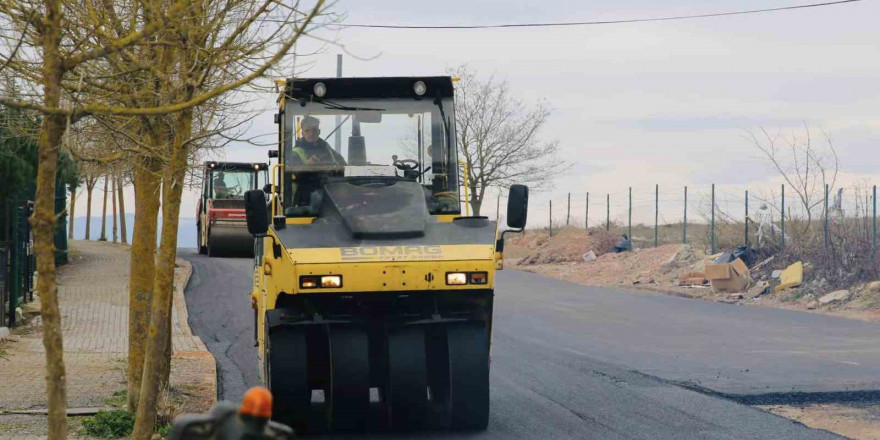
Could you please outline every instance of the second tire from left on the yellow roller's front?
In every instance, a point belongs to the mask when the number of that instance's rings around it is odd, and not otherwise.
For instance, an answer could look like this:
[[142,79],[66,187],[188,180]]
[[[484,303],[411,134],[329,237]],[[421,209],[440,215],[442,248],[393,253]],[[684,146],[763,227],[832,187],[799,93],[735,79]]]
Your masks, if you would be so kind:
[[330,417],[333,431],[363,431],[370,415],[367,332],[330,326]]

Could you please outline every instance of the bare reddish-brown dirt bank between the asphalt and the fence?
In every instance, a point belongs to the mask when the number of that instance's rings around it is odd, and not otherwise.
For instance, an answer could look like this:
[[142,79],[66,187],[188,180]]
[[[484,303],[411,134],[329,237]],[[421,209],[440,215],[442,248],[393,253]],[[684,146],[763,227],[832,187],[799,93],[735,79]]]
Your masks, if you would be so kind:
[[[800,285],[776,292],[779,270],[787,264],[756,256],[751,262],[748,287],[742,292],[716,293],[708,282],[682,285],[680,280],[685,272],[703,272],[714,256],[707,257],[683,244],[614,253],[612,248],[619,239],[600,229],[587,233],[567,228],[553,237],[546,231],[527,231],[509,237],[505,259],[513,268],[585,285],[647,289],[689,298],[880,320],[880,283],[859,284],[845,291],[833,289],[826,280],[814,279],[807,264]],[[595,259],[586,255],[591,251]]]

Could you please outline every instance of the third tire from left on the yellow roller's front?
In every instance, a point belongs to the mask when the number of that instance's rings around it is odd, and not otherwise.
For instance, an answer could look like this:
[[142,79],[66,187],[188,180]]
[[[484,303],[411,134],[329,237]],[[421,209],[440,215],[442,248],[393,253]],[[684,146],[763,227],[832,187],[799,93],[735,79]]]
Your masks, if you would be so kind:
[[394,430],[420,429],[428,420],[428,372],[425,328],[403,327],[388,333],[388,412]]

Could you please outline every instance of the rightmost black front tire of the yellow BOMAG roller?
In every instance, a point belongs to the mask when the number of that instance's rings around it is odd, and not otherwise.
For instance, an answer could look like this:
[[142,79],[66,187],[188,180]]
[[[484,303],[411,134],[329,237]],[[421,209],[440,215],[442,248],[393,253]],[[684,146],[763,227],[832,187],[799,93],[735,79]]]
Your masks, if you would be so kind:
[[489,425],[489,340],[482,322],[450,324],[449,423],[455,430]]

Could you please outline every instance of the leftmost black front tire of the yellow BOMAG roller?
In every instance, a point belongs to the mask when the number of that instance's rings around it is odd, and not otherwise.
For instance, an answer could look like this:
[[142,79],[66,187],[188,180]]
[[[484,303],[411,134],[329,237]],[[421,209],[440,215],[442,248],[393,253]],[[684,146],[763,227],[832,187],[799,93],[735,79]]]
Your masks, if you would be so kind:
[[305,432],[312,399],[305,328],[282,327],[267,335],[265,377],[273,396],[272,419]]

